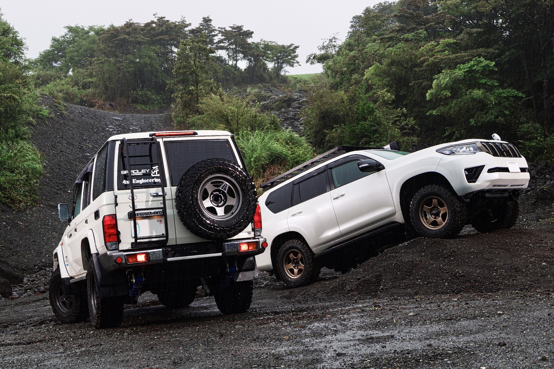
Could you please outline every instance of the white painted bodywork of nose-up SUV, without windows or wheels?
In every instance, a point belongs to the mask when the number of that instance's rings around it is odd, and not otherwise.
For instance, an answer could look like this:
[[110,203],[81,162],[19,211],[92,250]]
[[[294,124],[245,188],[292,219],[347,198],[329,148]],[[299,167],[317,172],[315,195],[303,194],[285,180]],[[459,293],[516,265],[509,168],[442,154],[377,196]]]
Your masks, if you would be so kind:
[[[440,174],[444,176],[459,196],[481,190],[520,190],[527,187],[529,184],[529,173],[527,171],[488,173],[489,169],[496,167],[510,167],[512,170],[515,170],[515,168],[527,168],[527,161],[524,157],[495,157],[486,152],[458,155],[446,155],[437,152],[437,149],[452,145],[475,142],[507,143],[504,141],[466,139],[435,145],[391,160],[379,156],[375,152],[372,152],[372,150],[352,151],[332,158],[314,168],[310,168],[298,176],[294,176],[265,191],[259,198],[259,204],[264,221],[263,235],[268,242],[269,250],[256,257],[258,268],[261,271],[273,270],[274,266],[270,257],[272,243],[275,237],[289,231],[300,233],[311,250],[317,254],[338,243],[362,235],[373,228],[378,228],[389,223],[392,224],[392,222],[403,224],[405,220],[401,211],[402,185],[417,175],[425,173]],[[382,163],[385,169],[336,189],[331,189],[326,194],[309,200],[312,201],[312,205],[316,209],[307,210],[307,202],[309,201],[291,206],[289,209],[277,214],[274,214],[266,207],[265,201],[274,190],[312,171],[338,162],[338,160],[349,155],[356,154],[364,155]],[[468,183],[468,180],[465,178],[464,169],[480,165],[484,165],[484,168],[478,179],[475,183]],[[365,194],[368,194],[368,196],[364,196]],[[329,196],[325,201],[330,199],[334,205],[333,211],[335,212],[338,228],[341,230],[340,236],[335,231],[336,225],[334,222],[329,220],[332,219],[330,214],[326,214],[326,216],[320,214],[320,210],[324,211],[323,209],[328,209],[328,206],[322,205],[321,201],[314,201],[315,199],[323,199],[324,196]],[[336,199],[333,200],[334,198]],[[320,209],[317,209],[318,207]],[[290,215],[300,209],[303,211],[301,216],[305,217],[305,219],[297,215],[299,217],[293,221]],[[289,222],[288,225],[284,225],[282,219],[285,215],[283,213],[287,212],[286,216],[288,216]],[[306,219],[308,216],[311,219]],[[301,219],[302,221],[300,222]],[[324,243],[325,241],[328,242]]]

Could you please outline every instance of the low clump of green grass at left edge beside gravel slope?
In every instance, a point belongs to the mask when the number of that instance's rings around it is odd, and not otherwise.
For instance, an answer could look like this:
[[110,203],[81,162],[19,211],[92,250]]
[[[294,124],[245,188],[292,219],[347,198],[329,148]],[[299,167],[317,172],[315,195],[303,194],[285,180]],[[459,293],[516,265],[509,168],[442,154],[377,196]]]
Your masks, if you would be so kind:
[[40,153],[29,141],[0,140],[0,201],[12,208],[33,204],[43,174]]

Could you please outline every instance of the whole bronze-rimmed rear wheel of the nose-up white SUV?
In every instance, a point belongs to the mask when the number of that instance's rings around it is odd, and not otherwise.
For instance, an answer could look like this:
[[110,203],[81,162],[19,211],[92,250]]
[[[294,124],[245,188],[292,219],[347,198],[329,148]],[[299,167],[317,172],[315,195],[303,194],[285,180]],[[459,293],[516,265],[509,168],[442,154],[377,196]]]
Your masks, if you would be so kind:
[[283,243],[277,254],[277,273],[286,285],[301,287],[319,278],[320,263],[302,240]]

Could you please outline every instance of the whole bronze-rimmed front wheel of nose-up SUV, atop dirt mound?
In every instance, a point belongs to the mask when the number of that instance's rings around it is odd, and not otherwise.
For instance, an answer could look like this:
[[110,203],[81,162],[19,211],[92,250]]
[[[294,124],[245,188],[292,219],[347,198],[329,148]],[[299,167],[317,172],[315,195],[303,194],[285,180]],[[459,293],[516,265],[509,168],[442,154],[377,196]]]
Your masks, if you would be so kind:
[[466,216],[465,204],[440,185],[423,187],[410,204],[412,227],[424,237],[455,237],[464,227]]

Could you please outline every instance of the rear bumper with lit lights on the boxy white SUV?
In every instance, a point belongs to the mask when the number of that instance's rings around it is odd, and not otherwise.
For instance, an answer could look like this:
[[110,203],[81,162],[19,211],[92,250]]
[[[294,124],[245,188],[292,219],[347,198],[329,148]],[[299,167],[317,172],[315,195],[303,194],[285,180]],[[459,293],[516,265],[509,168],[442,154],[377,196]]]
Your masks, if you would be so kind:
[[[239,251],[238,246],[243,242],[257,242],[256,250],[252,251]],[[245,238],[244,240],[232,240],[224,242],[218,247],[217,250],[214,247],[188,247],[188,245],[174,245],[162,248],[155,248],[151,250],[125,250],[125,251],[107,251],[98,256],[98,260],[108,273],[116,271],[117,269],[126,269],[133,267],[148,267],[156,264],[163,263],[176,263],[186,261],[200,261],[202,259],[212,258],[235,258],[235,257],[253,257],[265,251],[265,248],[261,246],[263,242],[266,242],[264,237],[257,238]],[[192,250],[191,250],[192,249]],[[129,256],[136,254],[147,254],[146,261],[129,263]],[[120,258],[121,262],[117,262]]]

